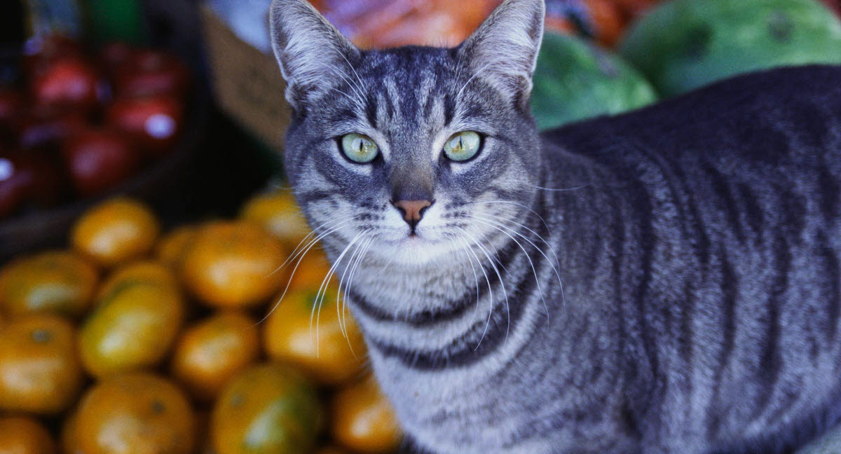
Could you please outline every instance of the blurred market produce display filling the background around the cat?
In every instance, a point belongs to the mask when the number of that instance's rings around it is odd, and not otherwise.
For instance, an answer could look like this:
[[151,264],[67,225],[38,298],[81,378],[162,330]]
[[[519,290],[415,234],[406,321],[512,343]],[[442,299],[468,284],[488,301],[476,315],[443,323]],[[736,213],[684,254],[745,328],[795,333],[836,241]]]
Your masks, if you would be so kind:
[[[0,452],[395,451],[283,185],[269,0],[0,3]],[[362,48],[500,0],[314,0]],[[838,0],[547,0],[541,128],[841,64]],[[320,309],[320,310],[319,310]]]

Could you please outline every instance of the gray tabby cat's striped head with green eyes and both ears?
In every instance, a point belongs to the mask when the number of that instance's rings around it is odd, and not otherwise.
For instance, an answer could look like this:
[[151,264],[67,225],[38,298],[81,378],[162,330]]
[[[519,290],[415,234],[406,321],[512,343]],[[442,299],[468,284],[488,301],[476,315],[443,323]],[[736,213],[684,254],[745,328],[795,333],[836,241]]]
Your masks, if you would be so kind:
[[286,172],[325,243],[422,264],[510,235],[542,173],[529,96],[543,14],[506,0],[456,48],[359,50],[304,0],[274,0]]

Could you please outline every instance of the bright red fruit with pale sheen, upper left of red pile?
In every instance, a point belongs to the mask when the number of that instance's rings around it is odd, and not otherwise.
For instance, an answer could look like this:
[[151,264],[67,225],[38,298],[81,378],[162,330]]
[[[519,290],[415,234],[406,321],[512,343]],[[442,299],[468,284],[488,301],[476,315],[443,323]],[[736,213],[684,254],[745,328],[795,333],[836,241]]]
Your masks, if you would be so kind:
[[56,59],[32,80],[35,103],[90,110],[98,103],[99,78],[93,66],[75,56]]

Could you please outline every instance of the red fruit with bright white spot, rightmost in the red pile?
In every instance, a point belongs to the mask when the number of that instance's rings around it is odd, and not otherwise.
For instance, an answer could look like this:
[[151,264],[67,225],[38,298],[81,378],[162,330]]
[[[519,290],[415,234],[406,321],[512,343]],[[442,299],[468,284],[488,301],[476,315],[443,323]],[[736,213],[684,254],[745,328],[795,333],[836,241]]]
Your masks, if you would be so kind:
[[134,145],[151,156],[172,151],[183,117],[181,103],[169,95],[118,98],[106,113],[108,124],[124,132]]

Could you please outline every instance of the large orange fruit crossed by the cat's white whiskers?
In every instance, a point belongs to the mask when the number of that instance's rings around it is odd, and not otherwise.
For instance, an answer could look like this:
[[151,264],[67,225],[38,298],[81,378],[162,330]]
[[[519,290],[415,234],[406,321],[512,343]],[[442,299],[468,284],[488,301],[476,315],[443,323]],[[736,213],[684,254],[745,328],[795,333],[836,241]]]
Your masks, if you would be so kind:
[[287,293],[269,314],[263,339],[272,359],[299,366],[321,384],[336,385],[362,371],[365,343],[351,315],[344,312],[340,318],[336,290],[328,288],[318,308],[317,289]]

